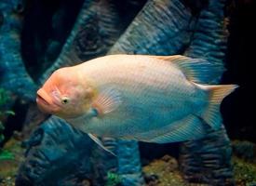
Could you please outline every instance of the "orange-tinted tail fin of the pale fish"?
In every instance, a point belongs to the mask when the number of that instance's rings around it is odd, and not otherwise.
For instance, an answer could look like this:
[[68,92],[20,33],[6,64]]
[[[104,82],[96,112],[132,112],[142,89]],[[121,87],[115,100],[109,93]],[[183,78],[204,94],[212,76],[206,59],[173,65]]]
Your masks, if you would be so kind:
[[218,129],[222,124],[222,114],[220,113],[220,105],[222,103],[222,100],[231,92],[233,92],[238,86],[224,85],[201,87],[209,91],[209,105],[206,110],[204,110],[204,112],[201,114],[201,117],[213,129]]

